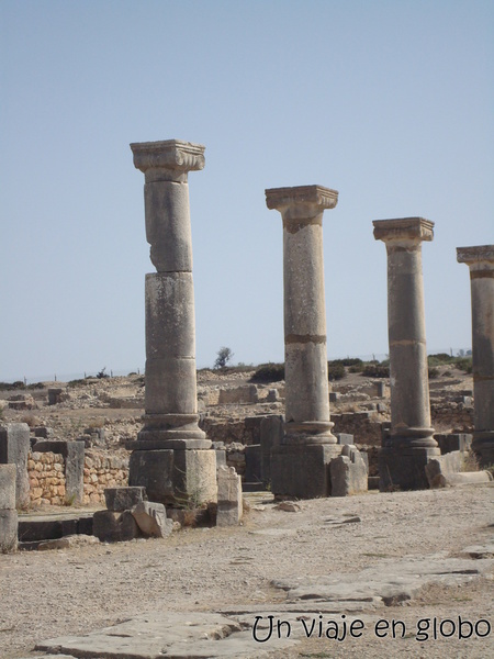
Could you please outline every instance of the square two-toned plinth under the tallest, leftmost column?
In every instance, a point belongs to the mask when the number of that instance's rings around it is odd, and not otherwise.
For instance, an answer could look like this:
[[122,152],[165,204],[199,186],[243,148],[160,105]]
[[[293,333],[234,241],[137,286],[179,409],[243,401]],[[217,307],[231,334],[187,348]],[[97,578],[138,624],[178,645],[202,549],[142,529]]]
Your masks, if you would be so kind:
[[148,500],[156,503],[199,507],[217,500],[216,453],[194,448],[134,450],[128,484],[146,488]]

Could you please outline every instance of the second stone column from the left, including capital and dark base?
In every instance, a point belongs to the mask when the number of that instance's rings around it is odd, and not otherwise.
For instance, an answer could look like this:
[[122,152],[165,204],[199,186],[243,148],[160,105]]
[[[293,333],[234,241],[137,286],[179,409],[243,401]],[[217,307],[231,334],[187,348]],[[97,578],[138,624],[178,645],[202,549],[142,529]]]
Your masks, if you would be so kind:
[[338,192],[321,186],[266,190],[283,220],[285,423],[271,456],[271,490],[300,499],[330,494],[332,434],[324,299],[323,213]]

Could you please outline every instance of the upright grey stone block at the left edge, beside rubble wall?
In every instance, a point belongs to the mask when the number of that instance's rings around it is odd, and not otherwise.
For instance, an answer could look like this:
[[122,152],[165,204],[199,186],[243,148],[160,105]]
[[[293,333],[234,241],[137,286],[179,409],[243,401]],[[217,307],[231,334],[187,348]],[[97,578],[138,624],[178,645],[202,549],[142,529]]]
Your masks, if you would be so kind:
[[15,507],[30,502],[27,454],[31,449],[30,426],[26,423],[9,423],[0,426],[0,465],[15,465]]

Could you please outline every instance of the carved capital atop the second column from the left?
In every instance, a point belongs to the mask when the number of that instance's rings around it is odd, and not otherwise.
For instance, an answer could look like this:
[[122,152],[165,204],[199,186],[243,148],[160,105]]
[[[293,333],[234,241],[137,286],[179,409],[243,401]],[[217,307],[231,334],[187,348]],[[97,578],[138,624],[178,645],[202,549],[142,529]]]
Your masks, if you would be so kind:
[[323,186],[270,188],[265,193],[268,209],[280,211],[283,219],[291,220],[308,220],[326,209],[334,209],[338,203],[337,190]]

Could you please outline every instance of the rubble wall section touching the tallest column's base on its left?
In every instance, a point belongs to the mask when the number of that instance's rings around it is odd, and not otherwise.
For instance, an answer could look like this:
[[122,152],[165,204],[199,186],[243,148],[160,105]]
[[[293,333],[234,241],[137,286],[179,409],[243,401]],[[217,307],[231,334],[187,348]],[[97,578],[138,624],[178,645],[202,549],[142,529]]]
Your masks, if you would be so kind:
[[83,503],[104,504],[104,489],[128,484],[128,458],[86,453]]

